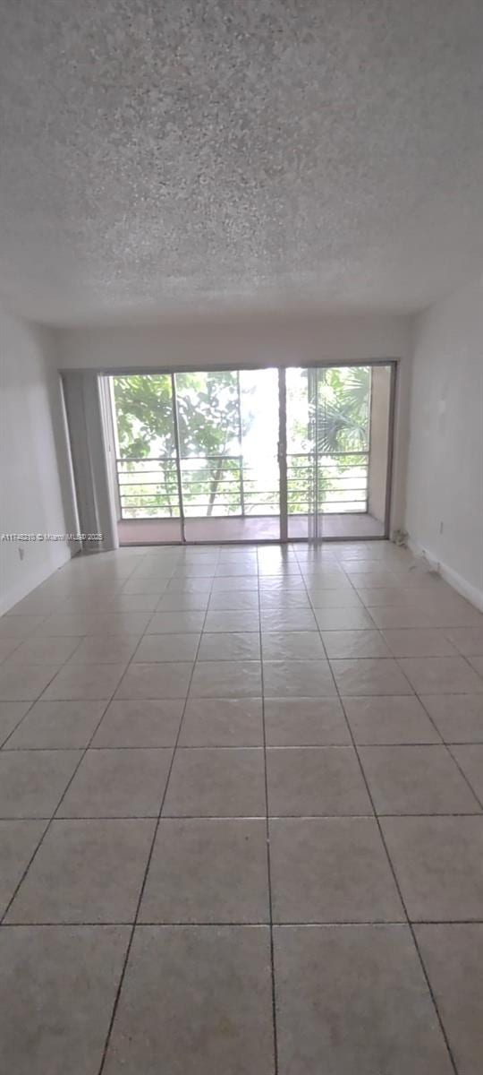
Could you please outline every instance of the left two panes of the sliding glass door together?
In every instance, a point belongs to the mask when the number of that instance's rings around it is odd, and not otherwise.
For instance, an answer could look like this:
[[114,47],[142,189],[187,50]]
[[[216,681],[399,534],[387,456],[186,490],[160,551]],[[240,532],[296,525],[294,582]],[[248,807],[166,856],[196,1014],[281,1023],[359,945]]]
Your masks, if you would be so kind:
[[279,540],[278,370],[112,383],[121,544]]

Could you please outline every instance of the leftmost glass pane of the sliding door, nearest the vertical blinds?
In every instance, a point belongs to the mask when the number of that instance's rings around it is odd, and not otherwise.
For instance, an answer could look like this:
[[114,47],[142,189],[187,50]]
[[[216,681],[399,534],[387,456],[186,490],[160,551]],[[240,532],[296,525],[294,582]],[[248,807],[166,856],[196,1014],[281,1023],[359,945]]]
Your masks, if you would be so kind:
[[111,383],[119,540],[180,541],[171,375],[129,374]]

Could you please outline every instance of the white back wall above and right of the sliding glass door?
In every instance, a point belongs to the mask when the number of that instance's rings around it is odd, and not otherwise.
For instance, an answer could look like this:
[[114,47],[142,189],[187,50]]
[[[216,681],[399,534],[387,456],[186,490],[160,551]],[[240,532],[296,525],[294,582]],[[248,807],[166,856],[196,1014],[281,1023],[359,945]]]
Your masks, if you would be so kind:
[[398,359],[392,530],[402,526],[409,417],[411,319],[313,312],[226,314],[148,327],[62,329],[59,369],[209,369]]

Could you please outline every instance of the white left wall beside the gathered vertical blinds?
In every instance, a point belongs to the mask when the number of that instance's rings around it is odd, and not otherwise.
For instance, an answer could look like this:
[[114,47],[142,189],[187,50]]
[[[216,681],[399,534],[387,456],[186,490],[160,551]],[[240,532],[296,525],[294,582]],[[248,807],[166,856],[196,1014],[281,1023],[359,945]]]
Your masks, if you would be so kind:
[[[0,532],[75,529],[53,333],[0,312]],[[64,494],[65,496],[65,494]],[[20,559],[21,553],[23,558]],[[70,558],[61,542],[0,542],[0,612]]]

